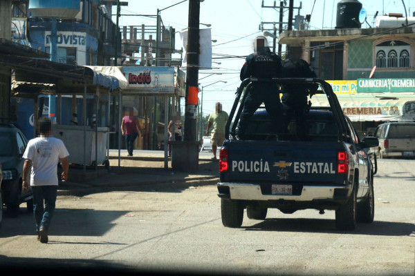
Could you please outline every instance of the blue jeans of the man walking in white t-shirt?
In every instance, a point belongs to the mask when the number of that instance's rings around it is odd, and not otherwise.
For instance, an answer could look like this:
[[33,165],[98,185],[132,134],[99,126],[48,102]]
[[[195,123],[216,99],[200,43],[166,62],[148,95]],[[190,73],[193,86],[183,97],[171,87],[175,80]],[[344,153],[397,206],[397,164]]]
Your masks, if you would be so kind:
[[50,220],[55,211],[57,185],[32,186],[33,214],[35,215],[36,231],[43,227],[48,231]]

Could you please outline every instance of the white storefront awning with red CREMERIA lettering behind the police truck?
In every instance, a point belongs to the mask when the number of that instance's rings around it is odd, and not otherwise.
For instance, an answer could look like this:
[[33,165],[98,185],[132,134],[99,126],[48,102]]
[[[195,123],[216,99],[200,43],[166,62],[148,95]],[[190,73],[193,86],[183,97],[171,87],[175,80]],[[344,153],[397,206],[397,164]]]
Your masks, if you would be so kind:
[[[336,95],[351,121],[415,120],[415,93],[359,93]],[[314,95],[312,106],[329,106],[326,95]]]

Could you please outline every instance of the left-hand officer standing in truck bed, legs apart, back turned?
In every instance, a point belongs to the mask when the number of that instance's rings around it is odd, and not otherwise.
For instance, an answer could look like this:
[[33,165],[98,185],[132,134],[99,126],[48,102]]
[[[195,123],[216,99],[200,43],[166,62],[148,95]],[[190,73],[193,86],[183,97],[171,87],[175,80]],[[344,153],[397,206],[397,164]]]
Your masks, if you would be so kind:
[[[246,57],[246,62],[241,69],[241,81],[249,77],[275,78],[282,75],[282,60],[274,52],[270,51],[266,37],[259,36],[254,41],[254,52]],[[279,99],[279,88],[273,82],[254,82],[243,102],[243,110],[237,125],[237,137],[243,139],[246,125],[250,117],[265,103],[268,116],[275,121],[275,131],[284,131],[283,107]]]

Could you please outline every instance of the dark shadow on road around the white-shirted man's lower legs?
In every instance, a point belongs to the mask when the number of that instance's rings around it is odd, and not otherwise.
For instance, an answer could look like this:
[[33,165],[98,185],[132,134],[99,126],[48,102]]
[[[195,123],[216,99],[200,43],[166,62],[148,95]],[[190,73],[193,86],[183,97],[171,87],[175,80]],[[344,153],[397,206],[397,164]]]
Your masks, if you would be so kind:
[[[54,236],[102,237],[113,228],[115,225],[113,221],[127,213],[129,212],[57,208],[49,229],[49,243],[56,242],[53,240]],[[35,239],[37,233],[33,213],[26,212],[26,208],[21,208],[19,217],[3,219],[0,238],[24,235],[33,235]]]

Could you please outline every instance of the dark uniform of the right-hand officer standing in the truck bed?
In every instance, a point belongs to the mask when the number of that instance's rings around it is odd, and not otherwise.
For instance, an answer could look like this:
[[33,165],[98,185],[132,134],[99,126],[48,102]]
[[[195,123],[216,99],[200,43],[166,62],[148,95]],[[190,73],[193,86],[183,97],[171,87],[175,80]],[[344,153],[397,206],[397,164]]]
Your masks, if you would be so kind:
[[[283,62],[283,76],[287,78],[315,78],[315,72],[303,59],[288,58]],[[291,118],[295,116],[297,125],[297,136],[305,139],[306,110],[308,109],[307,95],[313,95],[317,91],[317,84],[285,84],[282,86],[282,105],[286,113],[285,126],[290,124]]]

